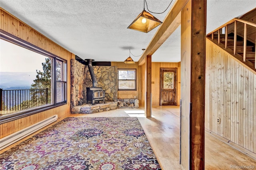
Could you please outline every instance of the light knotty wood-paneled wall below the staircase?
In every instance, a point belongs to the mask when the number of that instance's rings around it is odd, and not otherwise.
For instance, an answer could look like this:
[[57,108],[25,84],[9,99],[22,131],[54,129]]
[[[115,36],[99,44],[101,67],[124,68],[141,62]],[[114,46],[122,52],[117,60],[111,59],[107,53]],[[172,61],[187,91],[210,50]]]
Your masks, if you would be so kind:
[[256,72],[208,39],[205,91],[205,128],[256,153]]

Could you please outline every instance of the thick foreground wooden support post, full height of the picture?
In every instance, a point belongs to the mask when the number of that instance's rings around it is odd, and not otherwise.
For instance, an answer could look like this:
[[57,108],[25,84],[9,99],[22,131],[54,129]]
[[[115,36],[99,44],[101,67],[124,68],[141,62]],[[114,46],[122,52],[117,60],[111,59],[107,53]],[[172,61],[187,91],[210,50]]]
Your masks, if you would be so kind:
[[190,170],[204,169],[205,48],[206,1],[189,0],[181,18],[181,164]]

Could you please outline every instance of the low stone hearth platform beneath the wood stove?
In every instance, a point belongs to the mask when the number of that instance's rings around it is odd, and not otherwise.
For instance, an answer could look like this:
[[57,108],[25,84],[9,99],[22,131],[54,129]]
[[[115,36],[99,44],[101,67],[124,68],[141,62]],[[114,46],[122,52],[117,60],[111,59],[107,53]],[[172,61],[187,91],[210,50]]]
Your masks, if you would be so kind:
[[78,105],[74,106],[71,109],[71,113],[97,113],[103,111],[110,111],[117,108],[117,102],[106,102],[106,103],[98,103],[95,105],[86,104],[86,105]]

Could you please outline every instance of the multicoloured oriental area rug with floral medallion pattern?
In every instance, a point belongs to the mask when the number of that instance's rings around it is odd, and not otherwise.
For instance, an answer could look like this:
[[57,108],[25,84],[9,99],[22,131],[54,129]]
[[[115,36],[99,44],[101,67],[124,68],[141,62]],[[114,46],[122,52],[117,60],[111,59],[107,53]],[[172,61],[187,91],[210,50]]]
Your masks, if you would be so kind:
[[0,154],[0,169],[161,170],[136,117],[68,117]]

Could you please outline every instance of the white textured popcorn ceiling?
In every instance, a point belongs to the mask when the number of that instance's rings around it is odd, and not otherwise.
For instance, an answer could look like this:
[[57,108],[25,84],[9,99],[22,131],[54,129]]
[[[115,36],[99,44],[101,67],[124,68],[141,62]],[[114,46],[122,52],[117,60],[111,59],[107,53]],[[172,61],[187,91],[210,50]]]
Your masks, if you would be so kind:
[[[171,2],[146,1],[152,12],[163,12]],[[142,12],[143,0],[0,0],[0,6],[80,58],[95,61],[124,61],[129,49],[133,55],[142,54],[159,28],[147,34],[127,29]],[[163,21],[171,6],[153,15]],[[255,7],[256,0],[208,0],[206,33]],[[152,61],[180,61],[180,27]]]

